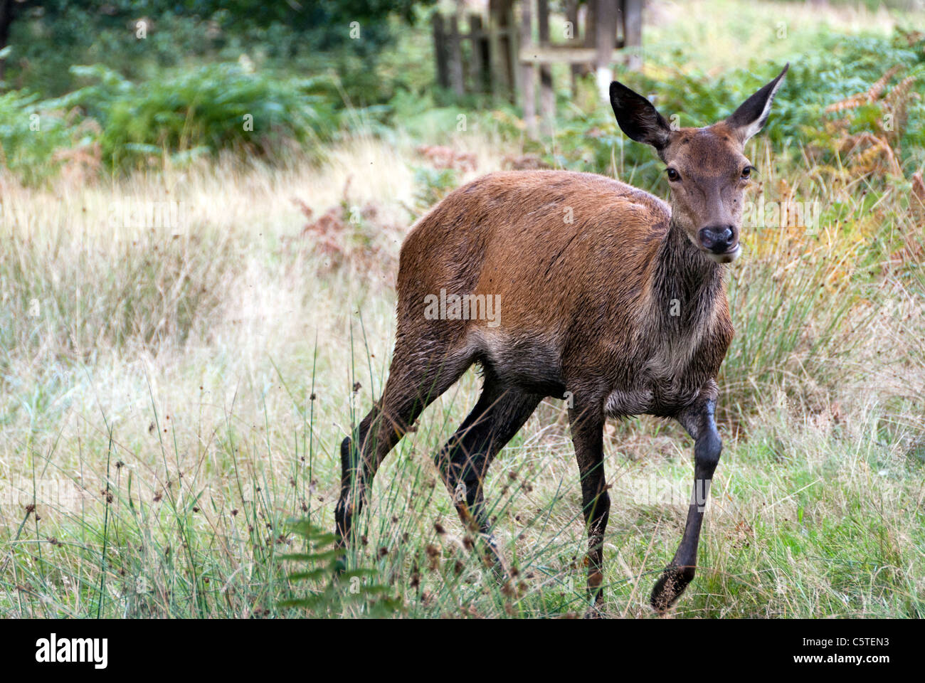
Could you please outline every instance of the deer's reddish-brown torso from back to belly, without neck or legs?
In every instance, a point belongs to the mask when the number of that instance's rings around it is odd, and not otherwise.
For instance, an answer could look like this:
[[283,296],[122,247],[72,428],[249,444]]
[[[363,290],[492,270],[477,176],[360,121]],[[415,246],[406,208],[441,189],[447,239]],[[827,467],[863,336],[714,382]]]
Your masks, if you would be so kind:
[[[555,393],[570,366],[604,363],[602,354],[613,356],[611,366],[627,361],[670,216],[648,192],[588,173],[475,180],[451,192],[402,245],[398,333],[464,339],[501,374],[510,368],[512,381]],[[425,297],[441,291],[494,297],[497,320],[435,325],[425,318]]]

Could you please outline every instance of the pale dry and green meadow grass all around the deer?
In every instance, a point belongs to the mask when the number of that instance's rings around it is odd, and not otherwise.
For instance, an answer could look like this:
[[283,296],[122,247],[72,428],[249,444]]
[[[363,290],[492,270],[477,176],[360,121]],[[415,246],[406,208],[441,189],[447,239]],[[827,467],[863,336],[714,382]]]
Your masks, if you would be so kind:
[[[439,482],[431,457],[475,404],[473,372],[388,457],[354,573],[330,578],[318,530],[333,528],[339,443],[387,375],[401,240],[445,190],[442,174],[415,170],[428,166],[415,142],[356,134],[321,167],[228,156],[48,187],[4,181],[0,615],[584,614],[561,402],[540,405],[487,480],[512,581],[486,571]],[[485,131],[454,144],[475,155],[458,182],[518,153]],[[701,568],[672,614],[920,617],[914,197],[876,173],[825,182],[752,144],[768,201],[828,213],[819,230],[743,235],[725,448]],[[177,224],[147,218],[170,202]],[[125,206],[140,213],[123,220]],[[648,592],[684,527],[692,445],[655,418],[608,424],[607,615],[654,616]]]

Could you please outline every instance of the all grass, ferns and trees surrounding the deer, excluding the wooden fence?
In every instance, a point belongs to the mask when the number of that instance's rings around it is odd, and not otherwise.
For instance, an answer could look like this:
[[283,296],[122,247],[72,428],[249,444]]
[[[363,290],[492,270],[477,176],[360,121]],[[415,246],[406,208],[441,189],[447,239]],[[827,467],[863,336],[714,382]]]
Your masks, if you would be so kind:
[[[593,77],[573,91],[553,66],[536,139],[506,99],[439,88],[430,19],[457,6],[0,0],[0,615],[584,610],[580,485],[552,399],[487,480],[520,577],[473,578],[431,455],[475,404],[475,371],[380,470],[351,549],[364,592],[326,565],[339,443],[383,385],[414,219],[504,168],[668,194]],[[749,198],[819,207],[743,230],[722,463],[676,614],[921,617],[925,9],[651,0],[644,20],[641,70],[614,75],[683,126],[790,63],[746,148]],[[182,219],[154,218],[163,205]],[[691,452],[671,422],[608,424],[608,481],[633,492],[612,500],[608,614],[651,615]]]

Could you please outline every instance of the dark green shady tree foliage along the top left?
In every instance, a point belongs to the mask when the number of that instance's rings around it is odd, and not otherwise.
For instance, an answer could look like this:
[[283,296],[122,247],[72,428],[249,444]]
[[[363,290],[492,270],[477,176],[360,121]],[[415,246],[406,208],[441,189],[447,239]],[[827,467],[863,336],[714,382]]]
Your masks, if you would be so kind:
[[[56,95],[73,89],[68,67],[75,63],[102,64],[138,80],[189,64],[190,58],[222,61],[242,52],[259,53],[259,61],[270,65],[293,68],[296,61],[296,71],[351,63],[351,72],[363,74],[375,71],[376,59],[394,41],[401,21],[413,19],[414,7],[433,1],[24,0],[12,3],[6,80]],[[354,21],[360,39],[351,38]]]

